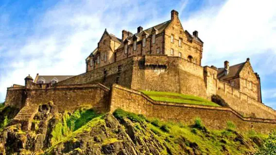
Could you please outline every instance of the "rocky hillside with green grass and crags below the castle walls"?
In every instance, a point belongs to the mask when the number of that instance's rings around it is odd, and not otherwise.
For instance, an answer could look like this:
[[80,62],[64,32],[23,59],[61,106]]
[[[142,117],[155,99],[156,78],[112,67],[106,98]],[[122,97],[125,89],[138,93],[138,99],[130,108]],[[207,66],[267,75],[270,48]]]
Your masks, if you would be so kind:
[[236,131],[231,122],[218,131],[207,129],[200,118],[188,126],[121,109],[58,113],[52,104],[46,107],[39,108],[30,131],[15,124],[1,132],[1,155],[250,155],[266,138]]

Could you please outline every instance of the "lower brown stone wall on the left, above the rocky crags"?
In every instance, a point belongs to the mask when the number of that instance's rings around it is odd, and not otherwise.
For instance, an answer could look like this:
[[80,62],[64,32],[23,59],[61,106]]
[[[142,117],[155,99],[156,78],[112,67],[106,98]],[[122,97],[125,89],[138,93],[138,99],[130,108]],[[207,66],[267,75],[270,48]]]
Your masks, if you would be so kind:
[[[71,111],[86,106],[106,112],[109,102],[109,89],[101,84],[61,85],[27,90],[10,88],[8,94],[8,105],[39,105],[52,101],[59,111]],[[23,97],[26,98],[25,102],[22,100]]]

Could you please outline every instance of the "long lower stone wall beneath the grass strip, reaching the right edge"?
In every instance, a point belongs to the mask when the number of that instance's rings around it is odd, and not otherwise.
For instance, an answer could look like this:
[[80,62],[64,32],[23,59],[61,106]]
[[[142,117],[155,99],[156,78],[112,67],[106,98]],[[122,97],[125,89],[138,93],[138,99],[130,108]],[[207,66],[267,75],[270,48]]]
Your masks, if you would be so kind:
[[200,117],[207,127],[213,129],[224,129],[227,121],[232,121],[239,130],[243,131],[254,129],[267,133],[276,128],[276,120],[242,117],[230,108],[156,102],[141,92],[119,85],[113,85],[111,93],[111,112],[121,108],[148,117],[180,121],[185,124],[193,124],[194,119]]

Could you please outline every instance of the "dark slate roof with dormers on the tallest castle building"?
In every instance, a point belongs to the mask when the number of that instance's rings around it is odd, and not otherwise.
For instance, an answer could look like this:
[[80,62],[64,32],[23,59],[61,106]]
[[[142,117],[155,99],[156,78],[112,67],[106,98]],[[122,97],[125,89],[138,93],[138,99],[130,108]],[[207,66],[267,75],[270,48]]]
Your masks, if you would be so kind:
[[[132,44],[134,36],[136,36],[138,38],[137,41],[140,41],[140,40],[142,40],[142,34],[143,33],[146,33],[147,35],[151,35],[153,29],[157,30],[156,34],[162,33],[170,23],[171,23],[171,20],[165,21],[165,22],[163,22],[161,24],[158,24],[158,25],[155,25],[155,26],[153,26],[149,29],[140,31],[139,33],[132,34],[132,35],[128,36],[126,39],[128,39],[130,41],[130,44]],[[123,47],[123,44],[121,44],[118,48],[121,48],[121,47]]]

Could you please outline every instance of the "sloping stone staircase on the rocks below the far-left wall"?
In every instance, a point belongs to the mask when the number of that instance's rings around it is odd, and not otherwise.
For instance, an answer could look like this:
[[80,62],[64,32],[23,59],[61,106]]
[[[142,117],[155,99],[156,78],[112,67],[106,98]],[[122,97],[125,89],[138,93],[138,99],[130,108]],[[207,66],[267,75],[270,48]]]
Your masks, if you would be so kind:
[[24,106],[12,120],[11,125],[21,124],[22,130],[28,130],[31,128],[33,118],[38,111],[38,105],[32,104]]

